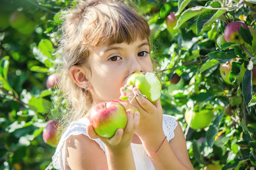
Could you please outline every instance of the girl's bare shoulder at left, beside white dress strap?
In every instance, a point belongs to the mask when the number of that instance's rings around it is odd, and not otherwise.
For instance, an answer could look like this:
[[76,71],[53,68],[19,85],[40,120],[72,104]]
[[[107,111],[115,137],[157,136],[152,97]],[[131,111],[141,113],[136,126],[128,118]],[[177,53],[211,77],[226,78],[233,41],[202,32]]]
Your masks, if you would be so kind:
[[65,141],[65,162],[67,169],[108,169],[104,151],[83,134],[72,135]]

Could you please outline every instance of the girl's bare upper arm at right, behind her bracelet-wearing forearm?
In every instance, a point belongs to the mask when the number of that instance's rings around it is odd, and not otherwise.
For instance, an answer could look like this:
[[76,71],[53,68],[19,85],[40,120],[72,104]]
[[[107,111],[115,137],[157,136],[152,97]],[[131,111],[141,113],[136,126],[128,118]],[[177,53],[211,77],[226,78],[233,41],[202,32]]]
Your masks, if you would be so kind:
[[177,127],[174,130],[174,138],[170,140],[170,146],[172,147],[173,152],[177,157],[184,162],[184,165],[188,167],[188,169],[194,169],[189,157],[188,157],[188,149],[186,146],[186,139],[184,137],[184,133],[182,131],[182,127],[177,121]]

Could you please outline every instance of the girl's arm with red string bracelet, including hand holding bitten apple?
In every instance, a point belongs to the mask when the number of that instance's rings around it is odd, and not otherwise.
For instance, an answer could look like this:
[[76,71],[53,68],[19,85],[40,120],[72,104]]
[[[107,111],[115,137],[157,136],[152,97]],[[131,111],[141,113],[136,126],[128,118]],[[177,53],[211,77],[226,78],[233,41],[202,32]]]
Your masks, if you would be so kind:
[[[134,88],[132,91],[122,95],[133,96],[136,93],[140,93],[140,91]],[[167,139],[164,139],[161,101],[159,100],[157,103],[152,104],[145,97],[139,95],[132,103],[138,106],[141,113],[141,122],[136,134],[140,137],[148,155],[156,152],[157,148],[163,143],[157,153],[150,157],[154,167],[158,170],[193,169],[188,158],[186,141],[180,125],[178,124],[175,129],[175,138],[170,143],[168,143]]]

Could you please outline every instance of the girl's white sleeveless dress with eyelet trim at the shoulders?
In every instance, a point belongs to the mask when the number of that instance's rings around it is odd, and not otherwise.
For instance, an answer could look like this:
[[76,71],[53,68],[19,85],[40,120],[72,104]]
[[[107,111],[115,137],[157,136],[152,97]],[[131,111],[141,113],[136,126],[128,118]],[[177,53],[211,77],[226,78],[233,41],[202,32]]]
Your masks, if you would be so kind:
[[[163,115],[163,131],[167,140],[170,141],[174,138],[174,129],[177,127],[177,119],[170,115]],[[65,169],[65,141],[71,135],[84,134],[88,136],[86,132],[86,126],[90,124],[87,118],[81,118],[77,122],[72,122],[67,130],[61,136],[60,142],[56,148],[56,152],[52,156],[52,164],[55,169]],[[100,139],[92,139],[96,141],[100,148],[105,152],[105,146]],[[137,170],[154,170],[154,166],[151,160],[148,158],[145,149],[142,144],[131,143],[132,154]]]

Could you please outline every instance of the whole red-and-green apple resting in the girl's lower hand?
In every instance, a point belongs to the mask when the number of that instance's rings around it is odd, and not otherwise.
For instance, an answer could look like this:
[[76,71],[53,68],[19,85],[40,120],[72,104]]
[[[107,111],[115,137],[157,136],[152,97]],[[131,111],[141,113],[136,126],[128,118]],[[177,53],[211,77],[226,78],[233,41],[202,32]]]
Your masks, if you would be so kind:
[[125,108],[117,101],[96,104],[90,114],[90,124],[99,136],[111,138],[117,129],[124,129],[127,123]]

